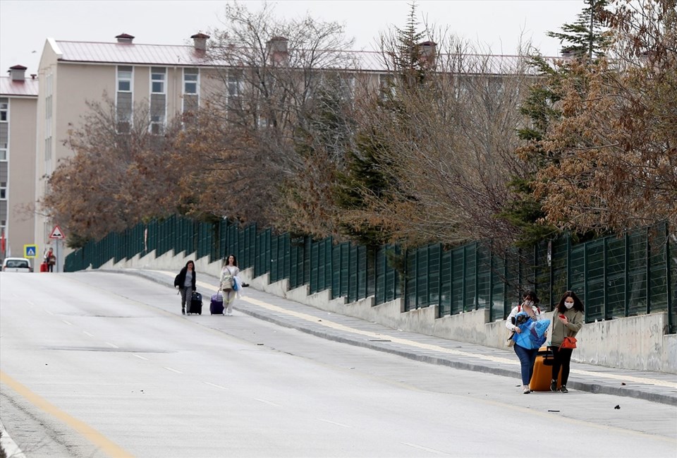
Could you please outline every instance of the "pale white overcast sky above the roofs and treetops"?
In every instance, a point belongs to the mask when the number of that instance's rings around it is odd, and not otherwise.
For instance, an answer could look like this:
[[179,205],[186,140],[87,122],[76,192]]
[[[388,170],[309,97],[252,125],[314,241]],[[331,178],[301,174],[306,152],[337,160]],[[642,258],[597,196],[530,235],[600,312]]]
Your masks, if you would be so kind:
[[[250,9],[262,1],[240,1]],[[403,28],[407,0],[281,0],[279,16],[310,12],[314,18],[346,25],[355,49],[373,49],[374,38],[391,25]],[[146,44],[188,44],[190,35],[221,27],[226,1],[209,0],[0,0],[0,71],[21,64],[37,73],[47,37],[56,40],[114,42],[121,33]],[[449,26],[459,37],[489,46],[494,54],[516,54],[520,35],[542,54],[559,54],[557,40],[545,35],[571,23],[583,0],[420,0],[421,23]],[[3,73],[0,73],[3,74]]]

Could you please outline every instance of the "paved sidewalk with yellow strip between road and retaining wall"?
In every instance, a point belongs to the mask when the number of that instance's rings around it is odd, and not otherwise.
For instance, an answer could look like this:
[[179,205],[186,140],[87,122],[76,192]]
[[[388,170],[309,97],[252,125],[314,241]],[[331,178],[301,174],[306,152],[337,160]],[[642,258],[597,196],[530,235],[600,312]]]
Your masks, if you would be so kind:
[[[166,284],[168,287],[173,287],[173,278],[176,275],[175,272],[142,269],[106,270],[106,272],[139,275]],[[200,275],[200,281],[197,282],[197,291],[202,293],[207,311],[209,296],[216,291],[217,285],[216,277],[205,274]],[[518,358],[514,351],[508,348],[494,349],[413,332],[402,332],[358,318],[322,311],[252,288],[245,289],[243,293],[233,306],[235,311],[276,325],[425,363],[513,377],[516,384],[520,383]],[[677,406],[677,375],[674,374],[606,368],[572,362],[567,387]]]

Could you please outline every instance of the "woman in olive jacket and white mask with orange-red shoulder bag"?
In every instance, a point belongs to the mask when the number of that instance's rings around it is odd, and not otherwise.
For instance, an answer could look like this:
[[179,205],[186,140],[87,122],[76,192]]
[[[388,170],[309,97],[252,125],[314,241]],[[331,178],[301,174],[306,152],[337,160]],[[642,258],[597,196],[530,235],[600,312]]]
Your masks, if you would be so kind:
[[[560,348],[564,337],[575,337],[583,327],[583,302],[573,291],[566,291],[559,300],[552,316],[551,345],[554,352],[552,363],[552,381],[550,391],[567,393],[566,382],[569,379],[569,366],[573,349]],[[562,368],[562,386],[557,387],[557,375]]]

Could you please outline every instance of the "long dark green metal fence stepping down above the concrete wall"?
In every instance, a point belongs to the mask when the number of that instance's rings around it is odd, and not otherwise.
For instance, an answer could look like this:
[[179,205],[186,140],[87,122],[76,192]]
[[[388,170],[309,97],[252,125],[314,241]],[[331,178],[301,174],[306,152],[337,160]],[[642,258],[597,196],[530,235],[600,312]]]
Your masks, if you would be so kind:
[[403,298],[407,311],[438,305],[439,316],[489,308],[491,320],[504,319],[526,289],[535,290],[541,308],[549,311],[573,289],[583,299],[587,322],[666,311],[670,332],[676,332],[677,237],[667,224],[586,243],[562,237],[529,251],[497,253],[488,242],[451,250],[439,244],[367,248],[259,231],[253,224],[170,217],[87,243],[68,255],[65,268],[97,268],[111,259],[170,250],[211,261],[232,253],[240,268],[253,267],[255,277],[268,274],[270,282],[288,279],[291,288],[307,285],[311,294],[329,289],[332,298],[348,302]]

